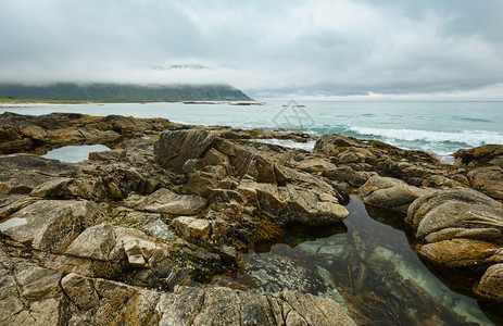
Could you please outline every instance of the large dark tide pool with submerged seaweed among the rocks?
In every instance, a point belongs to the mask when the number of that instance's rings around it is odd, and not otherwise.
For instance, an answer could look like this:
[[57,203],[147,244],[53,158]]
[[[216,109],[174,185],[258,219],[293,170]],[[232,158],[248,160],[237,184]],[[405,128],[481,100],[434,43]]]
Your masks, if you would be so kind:
[[397,216],[377,222],[356,196],[347,208],[345,226],[311,229],[317,238],[293,230],[268,252],[250,251],[237,277],[217,283],[328,297],[359,325],[493,325],[475,299],[450,290],[422,263],[405,234],[390,226]]

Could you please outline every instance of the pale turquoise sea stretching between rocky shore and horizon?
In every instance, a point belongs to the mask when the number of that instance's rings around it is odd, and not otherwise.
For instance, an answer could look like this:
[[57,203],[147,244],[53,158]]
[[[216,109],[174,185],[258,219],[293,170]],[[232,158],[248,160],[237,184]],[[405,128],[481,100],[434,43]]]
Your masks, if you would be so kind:
[[173,122],[239,128],[301,129],[377,139],[405,149],[448,155],[462,148],[503,143],[503,102],[301,102],[264,105],[113,103],[0,108],[24,114],[75,112],[164,117]]

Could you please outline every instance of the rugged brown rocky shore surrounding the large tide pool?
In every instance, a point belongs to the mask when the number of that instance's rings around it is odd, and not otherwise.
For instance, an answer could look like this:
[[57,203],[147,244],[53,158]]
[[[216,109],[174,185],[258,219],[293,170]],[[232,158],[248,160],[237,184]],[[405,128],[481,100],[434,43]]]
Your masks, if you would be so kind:
[[[161,118],[0,115],[1,325],[354,325],[339,303],[209,284],[294,225],[327,227],[359,193],[398,212],[417,253],[503,302],[503,146],[455,164],[325,135]],[[102,143],[80,163],[37,154]]]

